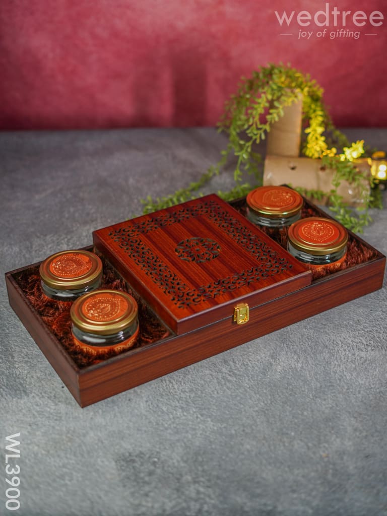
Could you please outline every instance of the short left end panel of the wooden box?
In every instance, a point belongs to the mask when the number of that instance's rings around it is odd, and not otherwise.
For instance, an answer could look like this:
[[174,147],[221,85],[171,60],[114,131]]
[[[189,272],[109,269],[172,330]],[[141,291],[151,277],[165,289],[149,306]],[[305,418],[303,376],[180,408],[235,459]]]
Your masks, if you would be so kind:
[[17,282],[13,279],[12,272],[7,272],[5,278],[11,308],[22,321],[28,333],[33,337],[78,404],[81,405],[78,385],[79,369],[57,341],[55,335],[44,325],[39,314],[28,303]]

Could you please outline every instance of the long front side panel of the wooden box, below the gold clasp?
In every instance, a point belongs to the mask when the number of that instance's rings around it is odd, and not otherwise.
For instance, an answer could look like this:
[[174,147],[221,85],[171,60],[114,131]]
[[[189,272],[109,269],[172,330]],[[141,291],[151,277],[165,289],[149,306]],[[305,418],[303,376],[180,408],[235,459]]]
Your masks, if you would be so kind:
[[369,294],[381,288],[384,267],[385,257],[381,257],[255,308],[246,325],[237,326],[232,317],[228,317],[139,349],[130,357],[85,370],[79,378],[81,404],[90,405]]

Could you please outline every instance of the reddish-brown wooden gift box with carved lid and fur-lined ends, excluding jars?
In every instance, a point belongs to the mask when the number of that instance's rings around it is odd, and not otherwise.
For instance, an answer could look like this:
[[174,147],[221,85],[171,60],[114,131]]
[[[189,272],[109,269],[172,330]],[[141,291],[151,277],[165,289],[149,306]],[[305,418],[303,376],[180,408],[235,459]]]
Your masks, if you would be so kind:
[[[206,219],[208,204],[211,215]],[[244,199],[231,204],[207,196],[94,232],[94,250],[104,262],[104,286],[137,298],[142,332],[137,347],[108,353],[102,360],[75,346],[71,303],[42,295],[40,263],[6,273],[11,307],[81,407],[382,286],[385,256],[357,235],[349,232],[347,260],[341,270],[312,278],[283,249],[286,231],[267,229],[265,236],[245,218]],[[327,216],[305,202],[302,216],[315,215]],[[261,242],[259,255],[253,250],[257,242]],[[225,260],[215,266],[224,252]],[[261,259],[263,267],[251,263]],[[168,296],[167,278],[173,278]],[[231,280],[236,287],[230,287]],[[211,289],[206,295],[206,288],[198,285],[211,285]],[[191,299],[196,299],[193,308]],[[235,308],[246,302],[249,320],[239,325]]]

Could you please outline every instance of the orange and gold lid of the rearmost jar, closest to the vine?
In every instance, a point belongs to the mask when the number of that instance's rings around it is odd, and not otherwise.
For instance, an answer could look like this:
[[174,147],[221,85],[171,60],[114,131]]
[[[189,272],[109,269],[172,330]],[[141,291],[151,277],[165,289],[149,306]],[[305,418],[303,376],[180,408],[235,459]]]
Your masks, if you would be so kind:
[[246,202],[260,215],[281,218],[298,213],[303,199],[296,190],[286,186],[260,186],[247,194]]

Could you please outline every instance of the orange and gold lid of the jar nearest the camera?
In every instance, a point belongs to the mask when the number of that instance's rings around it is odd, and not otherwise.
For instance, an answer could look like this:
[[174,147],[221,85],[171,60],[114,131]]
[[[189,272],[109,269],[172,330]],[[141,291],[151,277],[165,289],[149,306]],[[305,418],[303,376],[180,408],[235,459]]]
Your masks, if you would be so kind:
[[129,294],[96,290],[74,301],[70,316],[79,330],[96,335],[111,335],[130,327],[138,315],[137,301]]

